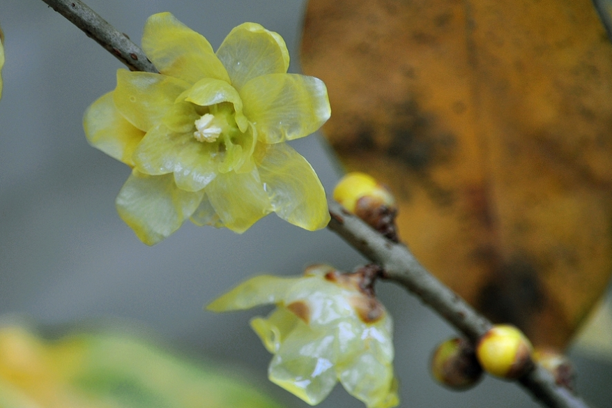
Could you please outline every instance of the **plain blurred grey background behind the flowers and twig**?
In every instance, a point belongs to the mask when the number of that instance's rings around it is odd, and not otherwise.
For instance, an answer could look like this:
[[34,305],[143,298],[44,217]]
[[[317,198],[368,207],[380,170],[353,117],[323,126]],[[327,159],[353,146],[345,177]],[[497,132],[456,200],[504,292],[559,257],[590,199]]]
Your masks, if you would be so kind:
[[[89,0],[136,43],[146,18],[171,11],[213,47],[252,21],[280,33],[300,71],[303,0]],[[215,315],[202,310],[257,273],[296,275],[309,263],[351,270],[363,259],[328,231],[305,232],[268,216],[243,235],[190,222],[149,248],[120,220],[114,197],[130,169],[91,148],[84,109],[114,89],[121,68],[84,33],[40,0],[0,0],[6,66],[0,103],[0,312],[43,326],[101,317],[123,319],[194,359],[239,367],[287,407],[304,402],[270,384],[270,355],[248,326],[255,310]],[[292,143],[331,191],[340,170],[319,135]],[[454,333],[403,289],[377,287],[395,318],[395,367],[402,407],[537,407],[519,387],[487,378],[465,393],[436,385],[431,349]],[[574,354],[579,390],[612,406],[612,366]],[[320,407],[363,407],[338,386]]]

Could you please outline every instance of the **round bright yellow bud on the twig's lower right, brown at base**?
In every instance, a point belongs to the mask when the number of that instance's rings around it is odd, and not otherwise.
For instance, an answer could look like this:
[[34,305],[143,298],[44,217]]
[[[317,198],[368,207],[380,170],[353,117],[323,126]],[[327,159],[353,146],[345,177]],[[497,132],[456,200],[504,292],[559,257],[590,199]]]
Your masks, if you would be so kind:
[[489,374],[516,379],[533,366],[532,351],[531,343],[518,328],[497,324],[480,338],[476,356]]

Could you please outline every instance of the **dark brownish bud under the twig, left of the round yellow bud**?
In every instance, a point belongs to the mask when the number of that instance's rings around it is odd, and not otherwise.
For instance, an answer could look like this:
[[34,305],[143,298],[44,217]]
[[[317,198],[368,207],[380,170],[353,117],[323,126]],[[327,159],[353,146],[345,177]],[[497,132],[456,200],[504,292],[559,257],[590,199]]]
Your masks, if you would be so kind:
[[482,368],[468,340],[451,338],[436,348],[431,374],[440,384],[459,391],[474,386],[482,377]]

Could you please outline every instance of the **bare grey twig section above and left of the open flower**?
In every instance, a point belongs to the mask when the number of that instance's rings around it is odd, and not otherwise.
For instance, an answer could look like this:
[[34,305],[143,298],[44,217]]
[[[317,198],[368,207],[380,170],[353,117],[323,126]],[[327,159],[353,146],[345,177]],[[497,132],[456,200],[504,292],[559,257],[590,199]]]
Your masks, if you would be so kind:
[[132,43],[124,33],[117,31],[95,11],[79,0],[43,0],[51,8],[60,13],[72,24],[82,29],[88,37],[102,45],[116,59],[124,63],[132,71],[147,71],[156,73],[153,63],[146,58],[141,48]]

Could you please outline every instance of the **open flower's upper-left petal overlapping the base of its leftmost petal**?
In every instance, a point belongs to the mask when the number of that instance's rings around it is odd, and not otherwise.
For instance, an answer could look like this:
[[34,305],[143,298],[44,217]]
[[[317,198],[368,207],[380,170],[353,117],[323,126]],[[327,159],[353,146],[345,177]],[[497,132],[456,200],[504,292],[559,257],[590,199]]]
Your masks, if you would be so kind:
[[125,119],[145,132],[160,123],[189,84],[167,75],[117,70],[115,106]]

